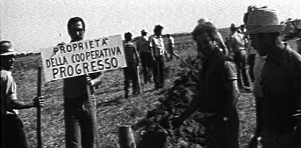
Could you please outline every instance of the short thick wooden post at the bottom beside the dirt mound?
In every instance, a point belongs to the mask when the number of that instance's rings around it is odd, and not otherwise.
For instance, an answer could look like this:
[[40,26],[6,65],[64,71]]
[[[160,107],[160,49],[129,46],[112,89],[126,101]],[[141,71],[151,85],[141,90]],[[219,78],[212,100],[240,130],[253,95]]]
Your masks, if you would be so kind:
[[120,148],[136,148],[134,135],[130,125],[119,125],[118,138]]

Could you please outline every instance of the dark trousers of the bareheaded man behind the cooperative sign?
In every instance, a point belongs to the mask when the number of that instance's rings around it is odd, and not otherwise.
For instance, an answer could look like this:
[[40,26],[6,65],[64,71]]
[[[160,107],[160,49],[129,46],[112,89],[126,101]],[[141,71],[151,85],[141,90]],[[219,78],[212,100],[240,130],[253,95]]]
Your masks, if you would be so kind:
[[93,122],[93,103],[88,95],[64,98],[64,109],[66,148],[93,148],[97,129]]

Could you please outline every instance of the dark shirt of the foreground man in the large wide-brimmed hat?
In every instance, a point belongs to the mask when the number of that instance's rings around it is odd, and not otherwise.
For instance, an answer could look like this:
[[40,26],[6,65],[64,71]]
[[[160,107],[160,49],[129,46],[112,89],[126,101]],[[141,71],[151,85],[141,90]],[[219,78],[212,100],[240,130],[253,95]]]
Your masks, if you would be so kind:
[[267,56],[261,84],[267,124],[284,125],[301,108],[301,55],[286,45],[273,57]]

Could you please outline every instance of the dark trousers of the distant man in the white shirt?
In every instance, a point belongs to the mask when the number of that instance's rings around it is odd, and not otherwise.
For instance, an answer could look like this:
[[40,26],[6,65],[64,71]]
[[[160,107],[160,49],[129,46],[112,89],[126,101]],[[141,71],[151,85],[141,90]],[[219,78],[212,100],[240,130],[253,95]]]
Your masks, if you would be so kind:
[[155,88],[162,88],[164,86],[164,58],[159,57],[155,58],[155,62],[153,64],[153,76],[154,76],[154,84]]

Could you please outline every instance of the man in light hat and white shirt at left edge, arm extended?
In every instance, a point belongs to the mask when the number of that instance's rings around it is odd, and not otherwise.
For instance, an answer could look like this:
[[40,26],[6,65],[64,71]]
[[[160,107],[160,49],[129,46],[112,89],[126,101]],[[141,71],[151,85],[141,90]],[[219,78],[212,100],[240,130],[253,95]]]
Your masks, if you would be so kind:
[[15,54],[10,41],[1,41],[1,147],[27,147],[23,122],[18,117],[17,109],[41,107],[43,97],[34,97],[31,101],[23,102],[17,98],[17,85],[12,76]]

